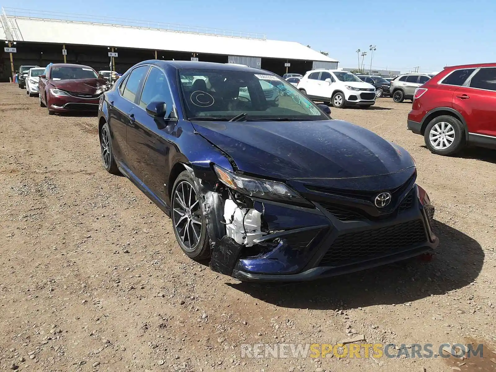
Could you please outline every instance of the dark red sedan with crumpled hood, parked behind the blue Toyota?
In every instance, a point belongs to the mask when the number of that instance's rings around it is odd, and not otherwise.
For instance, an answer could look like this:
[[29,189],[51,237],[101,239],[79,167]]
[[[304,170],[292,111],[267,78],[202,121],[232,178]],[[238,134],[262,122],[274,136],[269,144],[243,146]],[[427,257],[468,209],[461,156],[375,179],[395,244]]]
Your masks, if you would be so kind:
[[50,115],[70,111],[98,111],[107,81],[91,67],[82,64],[49,64],[40,75],[40,106]]

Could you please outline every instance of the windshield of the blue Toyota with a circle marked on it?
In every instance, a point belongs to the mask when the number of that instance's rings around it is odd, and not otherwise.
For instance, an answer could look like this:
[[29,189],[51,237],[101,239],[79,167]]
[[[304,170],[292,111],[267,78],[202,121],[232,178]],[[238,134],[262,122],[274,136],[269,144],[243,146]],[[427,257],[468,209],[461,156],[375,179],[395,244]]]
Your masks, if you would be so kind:
[[[233,70],[179,70],[187,118],[230,120],[329,120],[308,98],[278,76]],[[199,120],[197,119],[197,120]]]

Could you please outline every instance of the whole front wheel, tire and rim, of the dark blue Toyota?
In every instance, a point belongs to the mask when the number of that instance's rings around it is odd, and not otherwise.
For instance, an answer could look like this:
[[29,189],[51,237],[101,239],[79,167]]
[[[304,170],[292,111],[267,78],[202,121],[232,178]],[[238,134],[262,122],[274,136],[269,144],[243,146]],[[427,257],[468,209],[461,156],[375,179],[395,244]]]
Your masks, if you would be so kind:
[[174,234],[185,254],[195,260],[210,257],[203,198],[198,192],[198,180],[183,171],[174,183],[171,197],[171,216]]

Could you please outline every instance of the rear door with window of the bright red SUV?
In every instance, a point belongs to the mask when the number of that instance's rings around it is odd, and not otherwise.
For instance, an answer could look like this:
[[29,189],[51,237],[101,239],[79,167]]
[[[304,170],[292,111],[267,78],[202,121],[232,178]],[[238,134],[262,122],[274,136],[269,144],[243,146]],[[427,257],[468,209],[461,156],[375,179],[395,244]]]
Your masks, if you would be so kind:
[[463,115],[469,133],[496,140],[496,67],[480,68],[458,88],[453,108]]

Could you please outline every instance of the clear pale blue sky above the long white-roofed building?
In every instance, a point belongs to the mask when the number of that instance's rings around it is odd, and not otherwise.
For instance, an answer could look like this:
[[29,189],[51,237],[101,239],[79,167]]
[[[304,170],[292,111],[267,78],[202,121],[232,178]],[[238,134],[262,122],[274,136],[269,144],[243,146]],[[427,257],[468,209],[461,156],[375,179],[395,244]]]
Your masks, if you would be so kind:
[[357,49],[377,46],[372,67],[407,72],[496,62],[496,0],[86,0],[4,3],[16,8],[108,15],[267,34],[358,65]]

